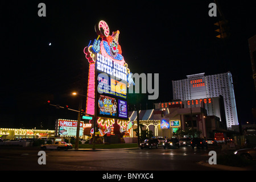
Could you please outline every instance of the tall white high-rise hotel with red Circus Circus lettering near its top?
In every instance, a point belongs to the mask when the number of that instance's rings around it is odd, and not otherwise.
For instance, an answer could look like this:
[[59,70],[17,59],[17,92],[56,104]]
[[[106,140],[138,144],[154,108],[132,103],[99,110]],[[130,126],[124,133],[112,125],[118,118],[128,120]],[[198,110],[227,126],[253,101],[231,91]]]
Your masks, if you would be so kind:
[[[193,102],[196,100],[204,102],[213,97],[223,97],[226,126],[231,130],[232,125],[238,125],[236,98],[230,72],[208,76],[205,76],[205,73],[188,75],[186,79],[173,80],[172,90],[174,100],[187,101],[187,105],[195,104]],[[208,105],[209,102],[205,104],[208,115],[224,118],[220,113],[216,113],[220,109],[212,109],[212,105]]]

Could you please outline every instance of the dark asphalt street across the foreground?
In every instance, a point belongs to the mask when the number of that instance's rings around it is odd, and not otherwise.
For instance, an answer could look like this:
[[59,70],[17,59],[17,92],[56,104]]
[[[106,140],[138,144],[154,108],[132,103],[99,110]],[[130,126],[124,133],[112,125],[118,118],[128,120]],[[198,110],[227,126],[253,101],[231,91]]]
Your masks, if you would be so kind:
[[164,149],[46,150],[46,164],[38,164],[40,148],[1,148],[0,170],[8,171],[201,171],[218,170],[198,162],[209,159],[208,150],[191,147]]

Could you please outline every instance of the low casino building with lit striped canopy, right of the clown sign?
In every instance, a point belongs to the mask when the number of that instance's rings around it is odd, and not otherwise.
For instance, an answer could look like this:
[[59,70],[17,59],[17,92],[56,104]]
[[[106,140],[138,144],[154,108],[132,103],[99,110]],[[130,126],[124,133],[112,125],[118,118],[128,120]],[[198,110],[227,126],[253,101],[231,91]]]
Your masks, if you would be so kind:
[[[137,129],[137,111],[129,111],[129,118],[134,122],[131,137],[136,137],[134,129]],[[160,109],[139,110],[139,123],[143,125],[143,130],[151,130],[154,137],[160,138],[174,137],[179,129],[199,131],[200,134],[195,137],[205,138],[212,138],[214,133],[227,131],[226,123],[221,122],[215,115],[207,115],[207,110],[203,107],[184,107],[182,103],[170,104]],[[192,134],[189,137],[192,137]]]

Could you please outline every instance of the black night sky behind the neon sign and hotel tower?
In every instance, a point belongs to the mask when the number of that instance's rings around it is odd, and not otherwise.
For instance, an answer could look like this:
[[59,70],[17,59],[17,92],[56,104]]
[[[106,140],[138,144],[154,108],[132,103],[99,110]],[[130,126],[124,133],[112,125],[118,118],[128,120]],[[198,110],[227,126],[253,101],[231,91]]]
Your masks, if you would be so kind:
[[[46,4],[46,17],[38,4]],[[230,38],[221,40],[210,17],[212,1],[1,1],[0,127],[53,129],[55,119],[77,113],[45,103],[78,109],[72,91],[86,94],[89,63],[84,48],[97,38],[94,25],[105,20],[110,34],[119,30],[122,55],[132,73],[159,73],[159,98],[172,100],[172,80],[186,75],[233,75],[238,121],[253,122],[255,107],[248,39],[255,35],[255,1],[223,1]],[[51,43],[51,46],[49,46]],[[130,105],[134,101],[129,101]]]

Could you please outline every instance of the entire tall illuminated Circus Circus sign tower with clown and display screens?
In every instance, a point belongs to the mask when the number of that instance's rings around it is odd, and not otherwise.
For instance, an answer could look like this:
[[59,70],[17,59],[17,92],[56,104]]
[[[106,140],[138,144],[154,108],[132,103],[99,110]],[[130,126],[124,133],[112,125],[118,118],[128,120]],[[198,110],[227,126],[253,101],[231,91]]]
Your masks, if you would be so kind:
[[95,25],[95,31],[97,39],[84,48],[89,61],[86,114],[96,115],[101,136],[119,134],[122,137],[133,126],[127,105],[130,69],[119,45],[120,32],[110,35],[109,26],[103,20]]

